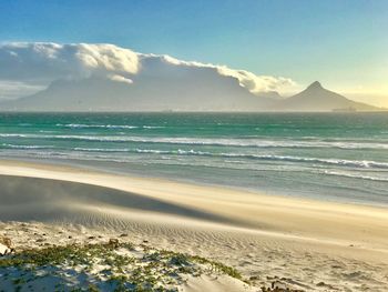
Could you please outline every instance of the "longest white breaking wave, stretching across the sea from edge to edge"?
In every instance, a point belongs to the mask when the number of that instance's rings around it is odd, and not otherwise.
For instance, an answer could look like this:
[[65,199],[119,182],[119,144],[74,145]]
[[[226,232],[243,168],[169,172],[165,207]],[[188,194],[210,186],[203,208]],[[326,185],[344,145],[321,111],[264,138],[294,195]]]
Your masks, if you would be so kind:
[[297,140],[263,140],[263,139],[236,139],[236,138],[164,138],[164,137],[127,137],[127,135],[76,135],[76,134],[23,134],[0,133],[4,138],[31,138],[80,140],[100,142],[139,142],[139,143],[166,143],[187,145],[218,145],[218,147],[248,147],[248,148],[338,148],[353,150],[388,150],[388,143],[372,142],[325,142],[325,141],[297,141]]

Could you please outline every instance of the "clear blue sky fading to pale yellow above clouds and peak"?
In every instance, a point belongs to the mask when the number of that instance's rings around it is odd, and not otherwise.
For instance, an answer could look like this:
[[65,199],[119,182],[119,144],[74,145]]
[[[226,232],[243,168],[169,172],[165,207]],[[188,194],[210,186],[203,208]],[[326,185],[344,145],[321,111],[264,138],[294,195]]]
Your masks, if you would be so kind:
[[295,91],[319,80],[384,107],[387,31],[386,0],[0,1],[2,43],[113,43],[290,78]]

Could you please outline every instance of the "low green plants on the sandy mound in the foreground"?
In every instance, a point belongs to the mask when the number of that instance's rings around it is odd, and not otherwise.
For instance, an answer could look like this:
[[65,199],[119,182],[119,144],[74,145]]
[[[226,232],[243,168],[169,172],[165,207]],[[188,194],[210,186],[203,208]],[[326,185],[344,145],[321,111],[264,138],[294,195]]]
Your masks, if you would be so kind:
[[54,291],[177,291],[188,274],[243,280],[238,271],[215,261],[116,240],[23,250],[0,259],[0,273],[1,285],[30,291],[42,283]]

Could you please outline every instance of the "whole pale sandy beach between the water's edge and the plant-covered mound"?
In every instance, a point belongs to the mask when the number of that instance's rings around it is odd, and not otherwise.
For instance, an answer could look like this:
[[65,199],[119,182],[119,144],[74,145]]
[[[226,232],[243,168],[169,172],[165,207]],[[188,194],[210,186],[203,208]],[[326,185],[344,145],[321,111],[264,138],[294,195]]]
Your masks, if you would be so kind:
[[276,279],[306,291],[388,289],[386,208],[11,161],[0,174],[0,226],[125,232],[233,265],[257,285]]

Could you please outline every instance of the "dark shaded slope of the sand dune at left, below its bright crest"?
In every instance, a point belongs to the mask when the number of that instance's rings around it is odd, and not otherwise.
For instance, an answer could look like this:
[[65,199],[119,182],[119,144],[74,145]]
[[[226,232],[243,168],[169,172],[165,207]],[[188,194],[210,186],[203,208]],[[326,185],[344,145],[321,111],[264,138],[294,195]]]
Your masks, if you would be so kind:
[[[0,184],[2,220],[65,221],[71,218],[88,224],[88,217],[110,217],[112,213],[111,220],[121,217],[125,220],[125,215],[131,220],[131,214],[157,213],[160,217],[169,214],[212,222],[227,221],[216,214],[150,197],[85,183],[1,175]],[[105,224],[113,224],[108,221]]]

